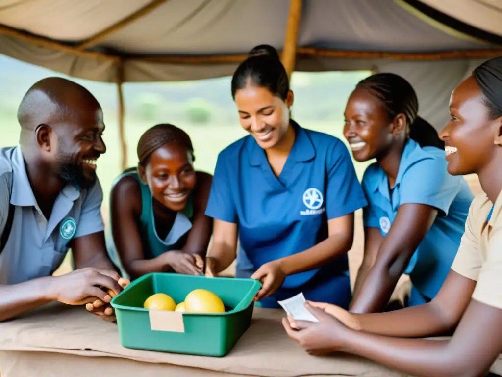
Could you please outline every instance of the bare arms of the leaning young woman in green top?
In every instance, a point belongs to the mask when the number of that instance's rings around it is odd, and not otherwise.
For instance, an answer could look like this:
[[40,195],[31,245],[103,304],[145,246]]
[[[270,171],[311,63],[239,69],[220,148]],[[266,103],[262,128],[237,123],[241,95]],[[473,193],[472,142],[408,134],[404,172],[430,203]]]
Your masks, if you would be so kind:
[[212,176],[197,172],[197,190],[194,200],[194,222],[182,251],[169,251],[153,259],[145,259],[139,219],[141,216],[141,189],[130,177],[122,178],[111,195],[113,239],[126,271],[132,278],[150,272],[178,272],[199,274],[203,256],[211,237],[211,219],[204,215]]

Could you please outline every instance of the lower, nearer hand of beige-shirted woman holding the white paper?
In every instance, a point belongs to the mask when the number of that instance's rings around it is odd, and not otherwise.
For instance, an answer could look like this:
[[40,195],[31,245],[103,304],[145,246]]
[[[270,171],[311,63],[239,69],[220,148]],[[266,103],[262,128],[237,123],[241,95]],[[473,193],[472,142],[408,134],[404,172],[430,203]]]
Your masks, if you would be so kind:
[[288,336],[298,342],[311,355],[325,355],[339,351],[347,328],[324,310],[308,303],[305,307],[319,322],[297,321],[292,317],[283,318],[283,326]]

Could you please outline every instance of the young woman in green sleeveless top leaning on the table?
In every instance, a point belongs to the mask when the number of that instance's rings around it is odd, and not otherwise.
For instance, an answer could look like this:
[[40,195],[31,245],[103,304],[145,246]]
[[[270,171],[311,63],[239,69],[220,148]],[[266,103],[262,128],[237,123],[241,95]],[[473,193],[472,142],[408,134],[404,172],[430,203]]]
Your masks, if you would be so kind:
[[190,137],[170,124],[143,134],[138,158],[138,167],[112,184],[110,257],[132,279],[149,272],[203,274],[212,175],[194,170]]

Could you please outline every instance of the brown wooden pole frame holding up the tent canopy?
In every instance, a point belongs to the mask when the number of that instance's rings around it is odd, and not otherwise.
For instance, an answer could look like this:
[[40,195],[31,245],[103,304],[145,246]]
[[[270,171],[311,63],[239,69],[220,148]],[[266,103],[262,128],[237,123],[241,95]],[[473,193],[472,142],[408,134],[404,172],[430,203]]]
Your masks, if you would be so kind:
[[[16,30],[5,25],[0,25],[0,35],[19,39],[23,42],[38,45],[48,49],[74,54],[83,58],[103,59],[113,61],[116,67],[116,84],[118,94],[118,134],[121,146],[121,166],[126,169],[128,166],[127,142],[124,134],[124,100],[122,92],[122,84],[127,82],[124,77],[124,64],[128,60],[139,60],[144,62],[152,62],[157,64],[238,64],[245,60],[247,54],[233,55],[212,55],[212,56],[144,56],[144,55],[108,55],[100,52],[87,51],[85,48],[98,43],[113,32],[127,26],[134,20],[151,12],[159,7],[167,0],[156,0],[148,6],[142,8],[139,12],[129,16],[128,18],[118,22],[117,24],[101,31],[95,36],[82,42],[78,46],[61,43],[49,38],[36,36],[27,32]],[[306,58],[327,57],[338,59],[389,59],[389,60],[410,60],[410,61],[427,61],[427,60],[446,60],[446,59],[462,59],[462,58],[490,58],[502,56],[502,49],[486,49],[486,50],[467,50],[467,51],[442,51],[442,52],[418,52],[418,53],[399,53],[399,52],[382,52],[382,51],[347,51],[347,50],[327,50],[301,47],[297,48],[296,40],[301,13],[301,0],[291,0],[290,13],[288,16],[288,27],[285,36],[285,46],[283,53],[279,53],[288,72],[288,76],[294,71],[296,57],[302,56]],[[296,54],[295,54],[296,50]]]

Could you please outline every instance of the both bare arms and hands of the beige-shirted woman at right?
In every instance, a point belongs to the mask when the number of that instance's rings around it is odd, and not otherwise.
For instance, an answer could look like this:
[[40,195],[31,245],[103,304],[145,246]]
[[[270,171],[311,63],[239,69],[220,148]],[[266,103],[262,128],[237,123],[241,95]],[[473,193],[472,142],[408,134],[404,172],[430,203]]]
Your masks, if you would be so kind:
[[[418,376],[482,376],[502,350],[502,310],[471,300],[475,284],[452,271],[429,304],[389,313],[345,312],[355,319],[350,323],[341,308],[323,311],[313,303],[307,309],[319,323],[284,320],[283,325],[311,354],[343,351]],[[335,309],[336,318],[328,308]],[[432,336],[457,324],[449,340],[404,339]]]

